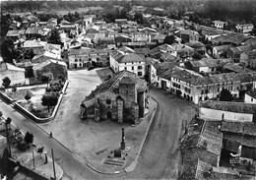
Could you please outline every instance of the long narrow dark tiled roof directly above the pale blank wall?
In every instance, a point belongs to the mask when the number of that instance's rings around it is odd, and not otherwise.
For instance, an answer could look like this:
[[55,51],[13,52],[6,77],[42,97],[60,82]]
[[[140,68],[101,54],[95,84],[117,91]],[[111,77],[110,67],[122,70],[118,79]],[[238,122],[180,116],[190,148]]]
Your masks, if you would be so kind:
[[256,113],[256,104],[243,102],[229,102],[208,100],[201,104],[201,107],[212,108],[217,110],[224,110],[237,113]]

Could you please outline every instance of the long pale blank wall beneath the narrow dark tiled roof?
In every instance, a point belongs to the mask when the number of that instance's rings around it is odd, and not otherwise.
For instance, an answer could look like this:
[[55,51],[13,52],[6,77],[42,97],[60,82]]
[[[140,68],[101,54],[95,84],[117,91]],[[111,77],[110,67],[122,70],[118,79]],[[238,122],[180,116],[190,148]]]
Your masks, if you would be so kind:
[[224,110],[216,110],[216,109],[210,109],[205,107],[199,107],[199,117],[202,119],[215,119],[215,120],[221,121],[223,114],[224,114],[225,120],[241,121],[241,122],[253,121],[253,114],[236,113],[236,112],[229,112]]

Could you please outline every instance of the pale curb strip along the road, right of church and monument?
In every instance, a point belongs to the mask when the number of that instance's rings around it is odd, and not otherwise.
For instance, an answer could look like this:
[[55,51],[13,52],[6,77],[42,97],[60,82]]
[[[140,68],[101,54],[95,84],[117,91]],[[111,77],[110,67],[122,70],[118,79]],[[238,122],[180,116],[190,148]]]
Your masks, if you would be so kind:
[[129,165],[128,167],[126,167],[126,168],[124,169],[125,172],[131,172],[131,171],[133,171],[133,170],[135,169],[135,167],[137,166],[137,163],[139,162],[139,158],[140,158],[140,156],[141,156],[141,152],[142,152],[142,150],[143,150],[143,148],[144,148],[144,145],[145,145],[145,141],[146,141],[146,139],[147,139],[147,137],[148,137],[150,128],[152,127],[153,120],[155,119],[156,111],[157,111],[158,108],[159,108],[159,102],[158,102],[154,97],[151,97],[151,98],[152,98],[155,102],[157,102],[157,107],[154,108],[154,111],[153,111],[152,116],[151,116],[150,123],[149,123],[149,125],[148,125],[148,127],[147,127],[146,134],[145,134],[145,136],[144,136],[144,138],[143,138],[143,141],[142,141],[142,143],[141,143],[141,145],[140,145],[138,154],[136,155],[136,158],[135,158],[135,160],[131,163],[131,165]]

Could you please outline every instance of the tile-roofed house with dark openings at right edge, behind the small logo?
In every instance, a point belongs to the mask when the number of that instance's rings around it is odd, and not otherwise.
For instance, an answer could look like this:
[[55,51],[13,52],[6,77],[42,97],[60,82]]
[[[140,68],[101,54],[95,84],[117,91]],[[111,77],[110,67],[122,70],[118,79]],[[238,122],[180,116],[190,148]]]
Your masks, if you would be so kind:
[[233,158],[233,155],[236,154],[240,162],[234,164],[236,169],[246,167],[247,172],[254,171],[256,165],[255,122],[227,121],[224,119],[221,132],[224,134],[221,163],[226,159],[229,160],[228,157]]

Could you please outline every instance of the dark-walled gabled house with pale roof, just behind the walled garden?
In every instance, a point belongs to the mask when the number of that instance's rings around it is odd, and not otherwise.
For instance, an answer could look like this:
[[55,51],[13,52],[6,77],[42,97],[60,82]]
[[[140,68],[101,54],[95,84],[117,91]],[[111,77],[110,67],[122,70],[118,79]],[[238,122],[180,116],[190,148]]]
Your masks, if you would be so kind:
[[68,71],[67,65],[63,61],[48,59],[44,62],[36,64],[32,67],[33,77],[35,80],[40,81],[44,73],[51,73],[53,79],[58,79],[60,76],[67,79]]

